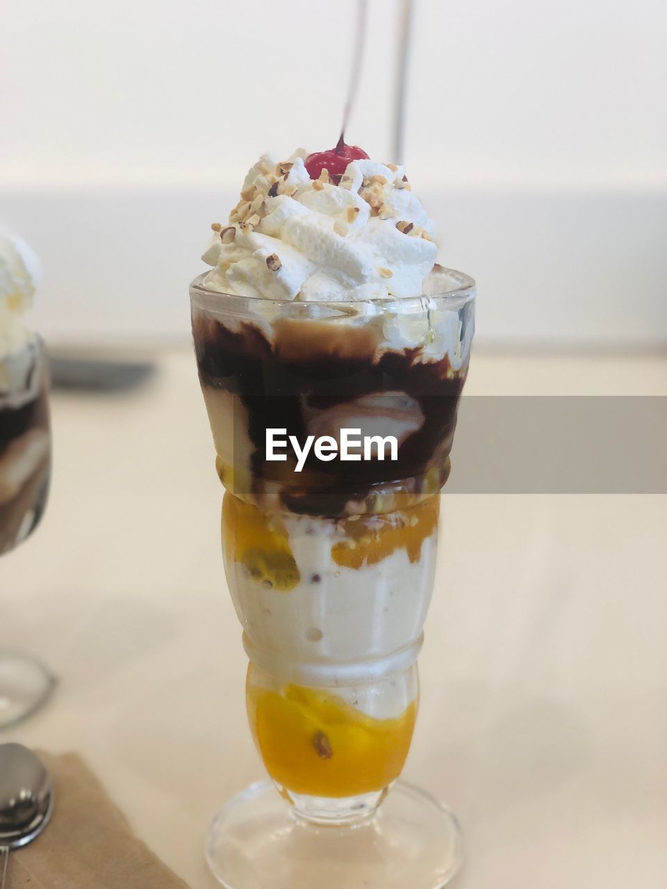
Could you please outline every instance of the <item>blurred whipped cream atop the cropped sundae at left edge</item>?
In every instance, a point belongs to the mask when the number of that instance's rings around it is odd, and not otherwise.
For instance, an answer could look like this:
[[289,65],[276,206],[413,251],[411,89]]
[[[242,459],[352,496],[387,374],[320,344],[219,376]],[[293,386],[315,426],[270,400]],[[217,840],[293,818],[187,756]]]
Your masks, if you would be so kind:
[[28,244],[0,232],[0,359],[24,348],[32,337],[22,317],[40,276],[39,260]]

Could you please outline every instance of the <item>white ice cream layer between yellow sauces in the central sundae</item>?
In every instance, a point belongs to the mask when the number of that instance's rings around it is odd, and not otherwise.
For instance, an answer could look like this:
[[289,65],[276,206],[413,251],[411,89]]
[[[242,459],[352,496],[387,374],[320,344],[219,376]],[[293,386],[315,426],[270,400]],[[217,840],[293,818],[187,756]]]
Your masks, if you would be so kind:
[[398,547],[374,564],[358,569],[333,560],[342,532],[335,520],[284,514],[285,530],[300,580],[289,591],[269,587],[245,565],[226,565],[229,590],[245,634],[257,649],[307,667],[328,665],[335,684],[337,668],[374,661],[418,643],[429,607],[435,572],[437,531],[422,541],[411,561]]

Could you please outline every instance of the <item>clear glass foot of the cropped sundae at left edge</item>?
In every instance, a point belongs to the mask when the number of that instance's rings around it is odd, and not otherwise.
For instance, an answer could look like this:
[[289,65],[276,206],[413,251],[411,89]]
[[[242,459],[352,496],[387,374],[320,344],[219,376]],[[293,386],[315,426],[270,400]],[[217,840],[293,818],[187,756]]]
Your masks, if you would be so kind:
[[36,658],[0,652],[0,729],[19,723],[48,700],[56,680]]

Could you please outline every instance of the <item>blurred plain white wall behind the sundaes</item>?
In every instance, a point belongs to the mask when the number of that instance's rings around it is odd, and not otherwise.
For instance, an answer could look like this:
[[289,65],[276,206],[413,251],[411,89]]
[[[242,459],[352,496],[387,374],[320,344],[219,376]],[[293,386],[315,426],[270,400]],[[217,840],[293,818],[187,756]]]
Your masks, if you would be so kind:
[[[390,156],[397,0],[350,140]],[[415,0],[406,162],[487,340],[667,339],[667,3]],[[264,149],[340,125],[353,0],[0,0],[0,220],[56,339],[187,332],[185,284]],[[156,308],[158,311],[156,312]]]

